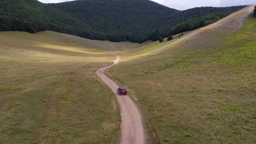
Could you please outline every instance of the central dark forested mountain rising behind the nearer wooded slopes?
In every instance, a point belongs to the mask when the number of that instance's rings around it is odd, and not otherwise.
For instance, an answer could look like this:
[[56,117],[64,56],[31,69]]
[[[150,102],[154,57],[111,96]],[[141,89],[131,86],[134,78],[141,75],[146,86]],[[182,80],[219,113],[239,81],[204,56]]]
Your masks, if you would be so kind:
[[95,28],[90,39],[140,42],[144,32],[162,26],[179,10],[150,0],[77,0],[48,4]]

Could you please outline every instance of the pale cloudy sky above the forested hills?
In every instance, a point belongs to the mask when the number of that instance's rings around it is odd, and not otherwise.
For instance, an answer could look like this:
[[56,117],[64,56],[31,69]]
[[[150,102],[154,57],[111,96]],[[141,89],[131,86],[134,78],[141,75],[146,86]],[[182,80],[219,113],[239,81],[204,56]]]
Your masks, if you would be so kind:
[[[43,3],[58,3],[72,0],[38,0]],[[189,8],[201,6],[225,7],[225,6],[239,6],[256,3],[255,0],[152,0],[169,8],[177,10],[186,10]]]

